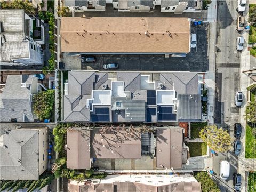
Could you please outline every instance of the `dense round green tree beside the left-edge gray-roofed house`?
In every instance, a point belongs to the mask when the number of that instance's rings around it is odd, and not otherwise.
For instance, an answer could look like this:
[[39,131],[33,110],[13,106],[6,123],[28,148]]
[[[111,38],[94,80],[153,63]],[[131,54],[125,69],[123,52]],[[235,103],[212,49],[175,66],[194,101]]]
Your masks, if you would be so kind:
[[41,121],[54,114],[54,99],[54,90],[46,90],[34,95],[34,113]]

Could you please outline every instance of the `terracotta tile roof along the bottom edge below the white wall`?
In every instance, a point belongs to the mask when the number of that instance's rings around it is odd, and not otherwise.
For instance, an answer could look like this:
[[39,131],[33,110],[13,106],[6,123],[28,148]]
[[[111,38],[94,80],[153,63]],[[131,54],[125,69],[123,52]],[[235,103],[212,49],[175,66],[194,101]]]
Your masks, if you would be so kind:
[[201,192],[198,182],[171,183],[163,186],[151,186],[143,183],[114,182],[97,185],[68,184],[68,192]]

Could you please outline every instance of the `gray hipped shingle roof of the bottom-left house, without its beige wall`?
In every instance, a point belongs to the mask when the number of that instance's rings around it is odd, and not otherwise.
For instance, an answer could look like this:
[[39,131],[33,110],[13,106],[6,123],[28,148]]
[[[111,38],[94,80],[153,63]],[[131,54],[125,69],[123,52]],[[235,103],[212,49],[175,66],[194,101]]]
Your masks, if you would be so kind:
[[0,178],[37,180],[39,131],[20,129],[7,133],[2,135],[3,147],[0,147]]

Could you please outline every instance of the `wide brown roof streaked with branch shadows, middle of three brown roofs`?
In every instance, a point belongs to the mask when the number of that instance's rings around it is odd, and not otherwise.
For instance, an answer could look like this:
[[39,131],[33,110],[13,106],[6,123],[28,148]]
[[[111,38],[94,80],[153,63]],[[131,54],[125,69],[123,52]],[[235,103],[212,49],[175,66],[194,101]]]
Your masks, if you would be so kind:
[[126,130],[115,130],[101,134],[100,129],[91,131],[92,157],[96,158],[140,158],[141,136],[134,131],[128,136]]

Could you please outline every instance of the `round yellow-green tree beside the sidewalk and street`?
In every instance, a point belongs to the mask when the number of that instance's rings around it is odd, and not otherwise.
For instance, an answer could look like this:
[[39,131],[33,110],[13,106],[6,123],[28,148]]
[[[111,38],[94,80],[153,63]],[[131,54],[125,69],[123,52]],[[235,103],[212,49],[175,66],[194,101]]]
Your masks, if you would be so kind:
[[199,137],[215,151],[227,152],[231,149],[231,137],[227,130],[223,130],[216,125],[204,127],[199,133]]

